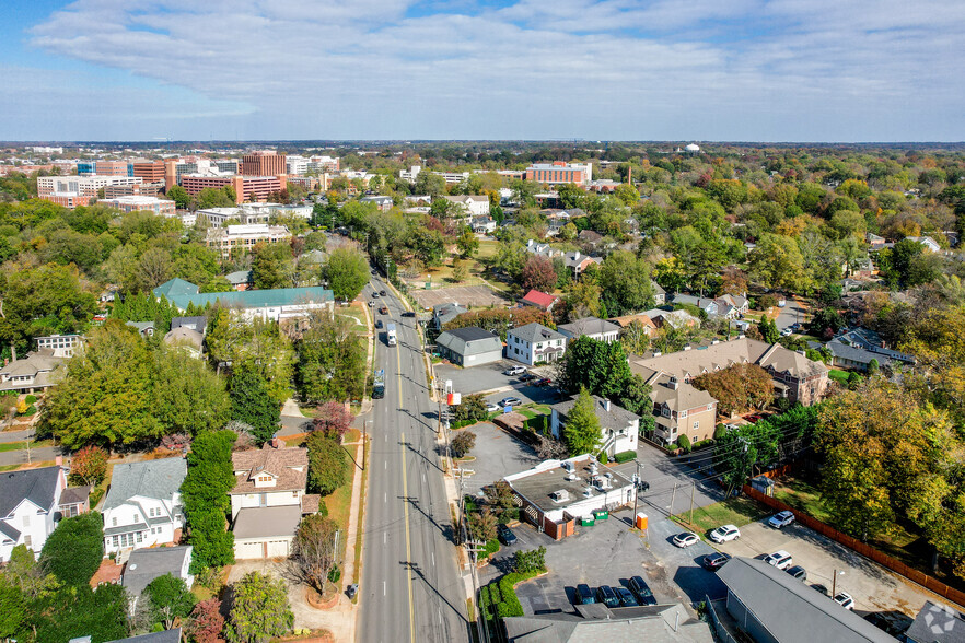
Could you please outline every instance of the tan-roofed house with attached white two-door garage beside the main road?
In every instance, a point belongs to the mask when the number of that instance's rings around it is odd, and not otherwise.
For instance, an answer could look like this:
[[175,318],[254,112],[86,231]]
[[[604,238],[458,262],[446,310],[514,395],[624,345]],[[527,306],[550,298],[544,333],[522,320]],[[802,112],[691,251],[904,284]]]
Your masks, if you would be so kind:
[[235,558],[289,556],[302,516],[318,511],[318,496],[305,493],[309,449],[276,439],[258,451],[233,453],[231,460]]

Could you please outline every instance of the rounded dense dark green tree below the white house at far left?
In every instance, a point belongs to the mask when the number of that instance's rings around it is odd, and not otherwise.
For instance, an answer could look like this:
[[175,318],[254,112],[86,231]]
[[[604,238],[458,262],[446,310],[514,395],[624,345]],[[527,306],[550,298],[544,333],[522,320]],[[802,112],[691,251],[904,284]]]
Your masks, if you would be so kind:
[[40,550],[40,566],[66,585],[85,585],[104,558],[104,519],[88,512],[60,521]]

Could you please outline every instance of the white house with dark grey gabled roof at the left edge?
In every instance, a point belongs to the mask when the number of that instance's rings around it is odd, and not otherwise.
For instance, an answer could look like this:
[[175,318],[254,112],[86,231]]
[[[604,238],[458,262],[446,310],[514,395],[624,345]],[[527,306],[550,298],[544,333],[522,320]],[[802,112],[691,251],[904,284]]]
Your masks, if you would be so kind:
[[18,545],[40,554],[60,519],[65,489],[67,475],[59,464],[0,474],[0,563],[10,560]]

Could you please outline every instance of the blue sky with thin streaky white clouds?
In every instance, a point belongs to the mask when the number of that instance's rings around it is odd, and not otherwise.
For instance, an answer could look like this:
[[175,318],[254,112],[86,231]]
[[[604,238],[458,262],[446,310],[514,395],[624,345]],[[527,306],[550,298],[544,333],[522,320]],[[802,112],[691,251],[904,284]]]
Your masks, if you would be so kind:
[[962,0],[2,0],[0,140],[965,140]]

